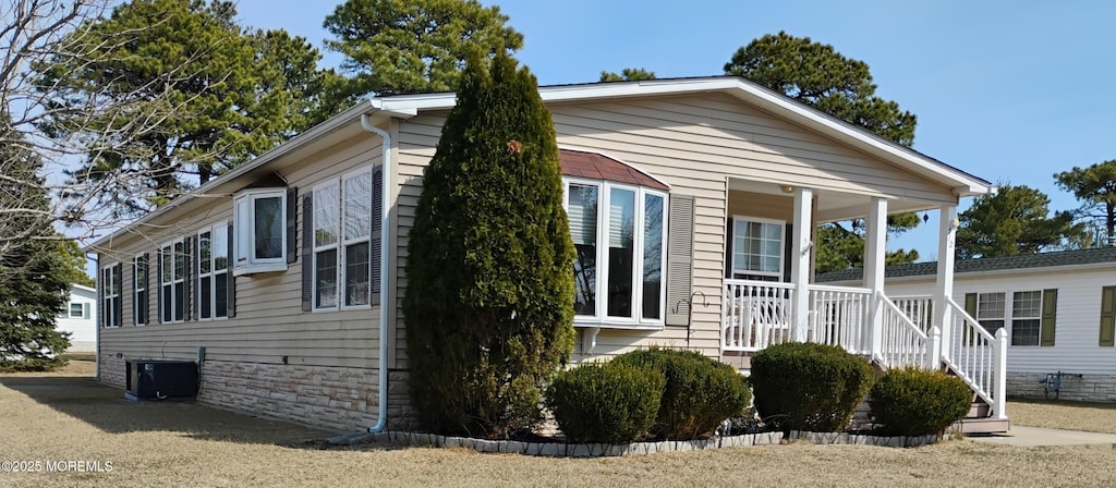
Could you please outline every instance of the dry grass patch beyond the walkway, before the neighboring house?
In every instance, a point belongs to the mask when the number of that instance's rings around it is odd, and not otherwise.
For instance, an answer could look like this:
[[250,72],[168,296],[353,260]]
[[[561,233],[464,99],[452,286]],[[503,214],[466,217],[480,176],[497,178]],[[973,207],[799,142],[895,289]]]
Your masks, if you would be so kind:
[[1116,404],[1113,403],[1009,401],[1008,417],[1013,426],[1116,433]]

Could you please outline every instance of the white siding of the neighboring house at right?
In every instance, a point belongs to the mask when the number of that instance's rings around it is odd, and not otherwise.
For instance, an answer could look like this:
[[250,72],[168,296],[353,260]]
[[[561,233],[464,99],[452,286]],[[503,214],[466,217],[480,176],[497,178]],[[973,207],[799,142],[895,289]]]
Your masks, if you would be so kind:
[[[1100,292],[1116,285],[1116,269],[1091,270],[1035,269],[1013,273],[964,273],[954,275],[953,300],[964,304],[965,293],[1011,293],[1058,290],[1057,338],[1052,347],[1008,348],[1008,373],[1116,374],[1116,348],[1097,345],[1100,323]],[[933,277],[888,280],[889,296],[933,293]],[[1011,324],[1004,325],[1009,332]],[[1010,343],[1010,339],[1009,339]]]

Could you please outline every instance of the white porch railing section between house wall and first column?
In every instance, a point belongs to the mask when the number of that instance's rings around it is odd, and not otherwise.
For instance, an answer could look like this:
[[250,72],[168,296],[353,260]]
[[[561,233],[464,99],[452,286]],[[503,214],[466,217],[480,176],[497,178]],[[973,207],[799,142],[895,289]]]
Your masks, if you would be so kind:
[[792,284],[725,280],[724,287],[723,350],[759,351],[791,340]]

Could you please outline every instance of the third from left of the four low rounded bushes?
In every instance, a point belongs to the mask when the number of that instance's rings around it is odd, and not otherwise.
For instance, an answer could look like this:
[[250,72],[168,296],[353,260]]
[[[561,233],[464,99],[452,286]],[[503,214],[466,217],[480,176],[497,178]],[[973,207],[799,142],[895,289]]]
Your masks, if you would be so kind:
[[782,430],[841,431],[868,393],[875,373],[835,345],[786,342],[752,357],[756,410]]

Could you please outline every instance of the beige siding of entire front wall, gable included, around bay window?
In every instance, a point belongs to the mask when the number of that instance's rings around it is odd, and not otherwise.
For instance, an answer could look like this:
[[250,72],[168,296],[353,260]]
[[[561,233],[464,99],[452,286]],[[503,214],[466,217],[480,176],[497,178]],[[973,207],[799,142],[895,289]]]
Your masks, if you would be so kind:
[[[818,189],[918,198],[952,204],[949,188],[874,159],[799,126],[776,119],[723,94],[642,98],[593,104],[552,104],[558,144],[599,150],[666,183],[672,194],[695,196],[691,348],[720,354],[721,301],[724,276],[728,180],[732,178],[791,184]],[[396,291],[406,286],[404,263],[407,231],[422,192],[423,169],[433,157],[445,113],[423,113],[398,125],[398,238]],[[742,203],[757,194],[733,193]],[[789,219],[792,199],[762,196]],[[778,202],[777,202],[778,201]],[[786,212],[786,213],[783,213]],[[756,212],[741,212],[757,215]],[[674,304],[667,303],[670,309]],[[396,354],[405,367],[402,318],[396,321]],[[588,344],[579,339],[577,352]],[[662,330],[602,329],[591,355],[609,357],[652,344],[686,347],[686,328]]]

